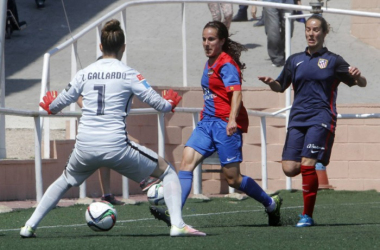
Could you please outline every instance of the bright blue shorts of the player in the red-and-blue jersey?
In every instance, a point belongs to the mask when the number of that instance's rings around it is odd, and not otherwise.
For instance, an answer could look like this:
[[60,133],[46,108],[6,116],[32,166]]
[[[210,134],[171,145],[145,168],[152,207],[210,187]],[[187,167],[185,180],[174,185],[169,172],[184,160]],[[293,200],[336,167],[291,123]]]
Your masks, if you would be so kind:
[[242,162],[241,130],[238,129],[228,136],[226,127],[227,122],[219,118],[204,118],[198,122],[185,147],[193,148],[205,158],[217,151],[222,167],[233,162]]

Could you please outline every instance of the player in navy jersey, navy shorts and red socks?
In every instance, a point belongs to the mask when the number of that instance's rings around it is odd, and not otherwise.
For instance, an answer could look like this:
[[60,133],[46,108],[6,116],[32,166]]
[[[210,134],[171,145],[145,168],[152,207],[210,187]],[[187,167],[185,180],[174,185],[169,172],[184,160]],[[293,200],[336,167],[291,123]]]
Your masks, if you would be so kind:
[[305,23],[307,48],[290,56],[280,76],[258,77],[275,92],[284,92],[293,83],[294,102],[282,153],[286,176],[302,174],[304,210],[297,227],[314,225],[313,210],[318,191],[317,162],[327,166],[334,143],[338,85],[365,87],[367,80],[358,68],[323,47],[329,25],[320,15]]

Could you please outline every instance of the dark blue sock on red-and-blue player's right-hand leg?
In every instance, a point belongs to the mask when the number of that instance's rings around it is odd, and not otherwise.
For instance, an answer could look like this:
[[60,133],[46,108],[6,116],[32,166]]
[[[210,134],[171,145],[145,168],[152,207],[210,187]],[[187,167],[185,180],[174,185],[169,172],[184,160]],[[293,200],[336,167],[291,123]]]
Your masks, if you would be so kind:
[[263,204],[264,207],[272,204],[272,198],[251,177],[243,175],[239,190]]

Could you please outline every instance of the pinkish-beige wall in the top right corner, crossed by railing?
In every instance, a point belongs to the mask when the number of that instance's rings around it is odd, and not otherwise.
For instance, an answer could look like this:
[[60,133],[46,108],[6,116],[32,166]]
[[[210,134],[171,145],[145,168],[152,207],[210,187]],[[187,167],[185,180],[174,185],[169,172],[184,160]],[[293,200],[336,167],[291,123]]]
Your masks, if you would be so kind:
[[[380,12],[380,0],[352,0],[352,10]],[[380,19],[351,17],[351,34],[361,41],[380,49]]]

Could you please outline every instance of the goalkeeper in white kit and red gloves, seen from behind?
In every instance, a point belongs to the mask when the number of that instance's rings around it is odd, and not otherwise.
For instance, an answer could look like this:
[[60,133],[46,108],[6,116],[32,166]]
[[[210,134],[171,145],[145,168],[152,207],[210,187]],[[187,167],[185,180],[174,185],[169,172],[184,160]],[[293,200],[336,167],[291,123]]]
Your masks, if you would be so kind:
[[79,186],[100,167],[112,168],[138,183],[150,175],[162,179],[165,202],[172,215],[170,236],[206,235],[182,220],[181,187],[173,166],[150,149],[128,140],[125,118],[133,96],[162,112],[173,110],[181,97],[169,90],[162,98],[139,72],[120,62],[124,42],[119,21],[108,21],[101,33],[103,59],[80,70],[61,94],[48,92],[40,103],[49,114],[56,114],[82,96],[82,117],[66,169],[46,190],[21,228],[22,237],[34,237],[40,221],[66,191]]

